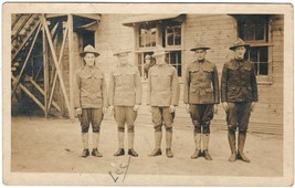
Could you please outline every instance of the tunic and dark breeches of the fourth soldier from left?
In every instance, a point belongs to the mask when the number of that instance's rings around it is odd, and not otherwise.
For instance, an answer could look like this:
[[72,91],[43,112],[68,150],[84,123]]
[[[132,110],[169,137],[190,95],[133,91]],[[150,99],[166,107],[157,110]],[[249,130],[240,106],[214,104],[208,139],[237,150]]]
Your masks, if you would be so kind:
[[220,102],[219,79],[215,64],[203,60],[187,66],[183,82],[183,102],[190,104],[194,133],[210,133],[213,104]]

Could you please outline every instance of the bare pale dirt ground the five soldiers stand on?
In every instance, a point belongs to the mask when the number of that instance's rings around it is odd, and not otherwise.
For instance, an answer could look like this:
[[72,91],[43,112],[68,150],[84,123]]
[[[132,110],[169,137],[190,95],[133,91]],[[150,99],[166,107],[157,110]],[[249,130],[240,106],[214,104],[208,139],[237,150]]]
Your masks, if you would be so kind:
[[[225,130],[211,130],[210,154],[190,159],[193,153],[192,127],[175,126],[173,158],[166,155],[148,157],[154,149],[151,124],[137,121],[135,149],[139,157],[114,157],[117,150],[117,127],[114,119],[105,117],[101,129],[102,158],[80,157],[82,153],[78,121],[43,117],[12,117],[11,170],[18,173],[87,173],[109,174],[129,160],[128,174],[136,175],[191,175],[191,176],[283,176],[283,137],[249,134],[245,154],[250,164],[229,163],[230,147]],[[254,126],[254,125],[253,125]],[[125,137],[127,148],[127,137]],[[89,140],[89,144],[92,142]],[[92,146],[89,145],[89,148]],[[165,148],[165,137],[162,142]]]

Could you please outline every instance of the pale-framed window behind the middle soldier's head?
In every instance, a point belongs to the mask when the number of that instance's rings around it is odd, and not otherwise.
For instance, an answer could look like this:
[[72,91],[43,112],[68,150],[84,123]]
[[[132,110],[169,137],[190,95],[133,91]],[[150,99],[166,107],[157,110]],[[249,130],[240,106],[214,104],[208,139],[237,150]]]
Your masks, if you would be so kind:
[[[146,80],[145,56],[152,55],[156,45],[162,45],[168,52],[166,62],[177,69],[178,76],[181,76],[181,22],[172,20],[152,21],[137,24],[136,33],[138,55],[137,66],[140,76]],[[155,60],[151,60],[155,64]]]

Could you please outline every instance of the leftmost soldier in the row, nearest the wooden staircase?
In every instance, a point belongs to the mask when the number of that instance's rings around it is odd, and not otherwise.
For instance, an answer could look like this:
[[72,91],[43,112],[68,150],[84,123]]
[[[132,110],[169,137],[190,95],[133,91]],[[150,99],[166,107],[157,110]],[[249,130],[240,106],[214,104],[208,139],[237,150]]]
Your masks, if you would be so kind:
[[92,155],[102,157],[98,152],[99,129],[104,114],[107,111],[107,91],[103,72],[95,65],[99,55],[92,46],[86,45],[80,53],[85,65],[76,71],[74,107],[81,122],[83,153],[82,157],[89,156],[88,129],[92,124],[93,150]]

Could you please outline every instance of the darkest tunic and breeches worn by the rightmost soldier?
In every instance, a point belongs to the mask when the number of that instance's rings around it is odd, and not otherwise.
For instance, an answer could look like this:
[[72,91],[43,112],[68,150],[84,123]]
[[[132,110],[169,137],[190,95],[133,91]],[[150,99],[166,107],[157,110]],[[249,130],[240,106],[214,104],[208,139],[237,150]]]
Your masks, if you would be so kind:
[[247,129],[251,103],[257,102],[257,83],[254,64],[246,60],[225,63],[221,77],[221,102],[228,102],[226,122],[232,130]]

